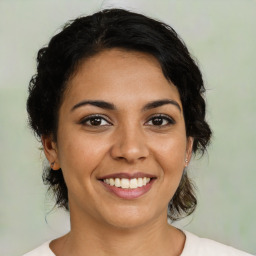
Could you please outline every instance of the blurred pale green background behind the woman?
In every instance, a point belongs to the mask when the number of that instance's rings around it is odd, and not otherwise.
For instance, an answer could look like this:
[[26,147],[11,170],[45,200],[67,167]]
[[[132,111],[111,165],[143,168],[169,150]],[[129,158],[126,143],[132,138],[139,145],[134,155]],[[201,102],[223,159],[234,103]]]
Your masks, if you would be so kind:
[[26,123],[27,85],[38,49],[58,28],[114,6],[173,26],[204,75],[214,137],[189,167],[198,209],[177,225],[256,254],[256,1],[0,0],[0,255],[21,255],[69,228],[45,198],[43,156]]

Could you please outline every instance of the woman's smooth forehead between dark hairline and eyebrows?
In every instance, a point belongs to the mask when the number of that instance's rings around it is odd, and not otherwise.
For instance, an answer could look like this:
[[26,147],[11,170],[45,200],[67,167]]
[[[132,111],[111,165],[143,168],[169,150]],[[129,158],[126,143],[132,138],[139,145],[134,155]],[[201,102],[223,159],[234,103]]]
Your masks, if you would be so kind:
[[114,48],[79,65],[68,82],[64,102],[102,99],[122,105],[158,98],[180,102],[177,88],[165,78],[158,60],[150,54]]

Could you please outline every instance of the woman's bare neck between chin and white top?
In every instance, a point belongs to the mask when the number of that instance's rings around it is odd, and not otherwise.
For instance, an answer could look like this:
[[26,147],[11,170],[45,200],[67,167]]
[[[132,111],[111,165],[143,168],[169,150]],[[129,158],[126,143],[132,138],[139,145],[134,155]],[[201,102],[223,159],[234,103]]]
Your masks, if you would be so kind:
[[184,247],[185,235],[164,216],[136,228],[104,225],[72,212],[70,217],[71,231],[51,243],[57,256],[177,256]]

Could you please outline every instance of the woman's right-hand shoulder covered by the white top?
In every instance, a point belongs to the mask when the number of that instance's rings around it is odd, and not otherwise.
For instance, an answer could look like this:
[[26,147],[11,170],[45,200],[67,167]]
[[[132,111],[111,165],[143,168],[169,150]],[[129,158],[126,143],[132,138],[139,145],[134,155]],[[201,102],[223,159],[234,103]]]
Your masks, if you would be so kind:
[[213,240],[200,238],[187,231],[183,232],[186,235],[186,242],[181,256],[252,256]]

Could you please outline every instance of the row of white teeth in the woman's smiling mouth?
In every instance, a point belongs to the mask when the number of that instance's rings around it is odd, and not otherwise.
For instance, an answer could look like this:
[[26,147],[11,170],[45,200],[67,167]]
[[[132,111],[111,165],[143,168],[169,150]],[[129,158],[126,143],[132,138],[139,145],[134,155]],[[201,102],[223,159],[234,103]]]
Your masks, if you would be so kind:
[[143,177],[143,178],[133,178],[133,179],[119,179],[119,178],[110,178],[104,179],[104,182],[110,186],[121,187],[121,188],[139,188],[142,186],[147,185],[150,182],[150,178]]

